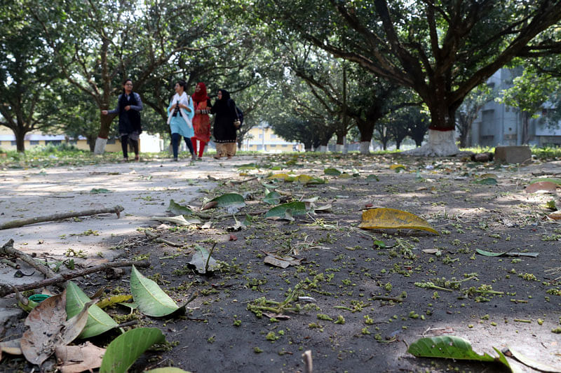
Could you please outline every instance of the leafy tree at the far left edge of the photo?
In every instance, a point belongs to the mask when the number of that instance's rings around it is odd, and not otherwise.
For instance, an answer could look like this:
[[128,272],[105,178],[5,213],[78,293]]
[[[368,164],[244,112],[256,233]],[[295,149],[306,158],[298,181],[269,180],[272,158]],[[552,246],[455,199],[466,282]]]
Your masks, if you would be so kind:
[[0,125],[12,130],[23,153],[25,134],[50,126],[58,110],[44,102],[58,72],[19,1],[2,8],[0,24]]

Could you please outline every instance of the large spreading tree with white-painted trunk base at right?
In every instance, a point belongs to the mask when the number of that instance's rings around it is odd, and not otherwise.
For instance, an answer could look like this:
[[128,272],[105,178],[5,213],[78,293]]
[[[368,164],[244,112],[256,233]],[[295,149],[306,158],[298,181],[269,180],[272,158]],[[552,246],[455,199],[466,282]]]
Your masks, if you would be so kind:
[[318,48],[410,87],[431,113],[429,143],[415,154],[452,155],[457,108],[517,55],[559,43],[534,38],[561,19],[551,0],[257,2],[259,16],[297,31]]

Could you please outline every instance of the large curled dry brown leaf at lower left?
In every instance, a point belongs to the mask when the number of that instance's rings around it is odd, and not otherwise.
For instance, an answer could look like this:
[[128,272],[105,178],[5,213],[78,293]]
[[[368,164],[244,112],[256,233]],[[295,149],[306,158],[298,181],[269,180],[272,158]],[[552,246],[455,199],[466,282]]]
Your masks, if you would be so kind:
[[41,365],[55,352],[78,337],[88,321],[88,309],[97,301],[84,305],[79,314],[67,321],[66,290],[48,297],[32,309],[25,319],[28,329],[23,333],[21,349],[29,363]]

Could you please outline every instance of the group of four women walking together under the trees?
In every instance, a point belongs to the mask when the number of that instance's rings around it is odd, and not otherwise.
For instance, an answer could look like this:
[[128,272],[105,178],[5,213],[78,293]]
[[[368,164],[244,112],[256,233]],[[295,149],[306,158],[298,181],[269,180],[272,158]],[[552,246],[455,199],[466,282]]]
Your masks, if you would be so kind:
[[[216,144],[215,159],[236,155],[236,120],[238,113],[236,103],[227,90],[218,90],[217,99],[211,104],[205,83],[198,83],[195,92],[187,95],[187,83],[178,80],[175,94],[168,106],[168,125],[171,133],[173,160],[177,161],[181,138],[191,153],[191,160],[201,160],[205,146],[210,141],[210,114],[215,117],[212,135]],[[135,160],[140,160],[138,140],[142,133],[140,124],[142,99],[133,92],[133,80],[123,83],[123,92],[119,95],[117,108],[103,110],[104,115],[119,115],[119,136],[123,149],[123,160],[128,161],[128,144],[133,146]],[[239,124],[238,124],[239,125]],[[198,143],[198,144],[197,144]],[[197,152],[198,150],[198,152]],[[197,155],[198,153],[198,155]]]

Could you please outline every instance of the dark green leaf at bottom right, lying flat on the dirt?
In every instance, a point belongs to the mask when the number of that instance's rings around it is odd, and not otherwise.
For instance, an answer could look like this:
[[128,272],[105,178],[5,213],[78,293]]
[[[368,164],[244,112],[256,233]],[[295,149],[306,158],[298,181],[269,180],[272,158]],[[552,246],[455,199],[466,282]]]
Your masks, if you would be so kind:
[[408,353],[417,358],[448,358],[458,360],[495,361],[487,353],[478,355],[466,339],[454,336],[426,337],[413,342]]

